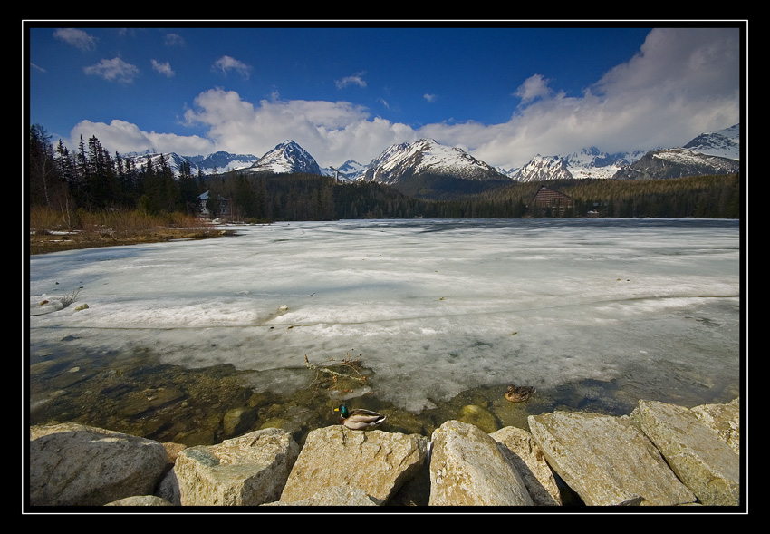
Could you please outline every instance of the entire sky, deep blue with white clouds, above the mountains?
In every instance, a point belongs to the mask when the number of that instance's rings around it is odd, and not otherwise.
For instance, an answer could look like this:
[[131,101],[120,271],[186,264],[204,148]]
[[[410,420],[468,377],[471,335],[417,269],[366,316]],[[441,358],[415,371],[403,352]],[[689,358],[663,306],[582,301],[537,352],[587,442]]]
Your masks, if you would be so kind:
[[328,166],[428,137],[511,168],[740,121],[737,25],[131,24],[26,22],[29,121],[54,143],[261,156],[293,139]]

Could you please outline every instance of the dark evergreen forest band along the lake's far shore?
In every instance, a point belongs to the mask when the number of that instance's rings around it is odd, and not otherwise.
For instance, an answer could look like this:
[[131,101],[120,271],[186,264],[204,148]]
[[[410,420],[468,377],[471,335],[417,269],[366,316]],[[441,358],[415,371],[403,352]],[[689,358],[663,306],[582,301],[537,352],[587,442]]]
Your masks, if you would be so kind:
[[[571,198],[566,208],[535,206],[543,182],[469,182],[416,176],[399,189],[374,182],[342,182],[309,174],[246,175],[227,171],[193,175],[185,162],[178,176],[162,155],[138,169],[111,155],[96,137],[81,139],[72,154],[42,127],[29,135],[30,206],[62,213],[140,210],[226,216],[244,221],[344,218],[697,217],[739,218],[739,175],[669,180],[549,180],[549,189]],[[207,193],[207,201],[199,197]]]

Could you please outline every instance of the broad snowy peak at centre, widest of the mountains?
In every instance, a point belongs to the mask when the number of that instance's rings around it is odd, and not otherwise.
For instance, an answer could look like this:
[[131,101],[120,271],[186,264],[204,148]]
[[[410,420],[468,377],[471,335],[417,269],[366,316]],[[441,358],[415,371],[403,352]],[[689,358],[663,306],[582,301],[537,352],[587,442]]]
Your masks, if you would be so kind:
[[484,161],[465,150],[441,145],[432,139],[391,145],[371,160],[363,175],[365,181],[394,184],[415,174],[451,175],[465,180],[505,178]]

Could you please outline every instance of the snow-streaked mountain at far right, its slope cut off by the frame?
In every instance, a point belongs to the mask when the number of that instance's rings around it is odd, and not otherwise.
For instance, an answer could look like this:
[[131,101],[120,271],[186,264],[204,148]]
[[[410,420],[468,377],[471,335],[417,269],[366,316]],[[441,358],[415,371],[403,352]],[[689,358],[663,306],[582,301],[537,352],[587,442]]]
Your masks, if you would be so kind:
[[679,178],[740,171],[740,124],[702,133],[684,147],[647,152],[618,170],[615,180]]

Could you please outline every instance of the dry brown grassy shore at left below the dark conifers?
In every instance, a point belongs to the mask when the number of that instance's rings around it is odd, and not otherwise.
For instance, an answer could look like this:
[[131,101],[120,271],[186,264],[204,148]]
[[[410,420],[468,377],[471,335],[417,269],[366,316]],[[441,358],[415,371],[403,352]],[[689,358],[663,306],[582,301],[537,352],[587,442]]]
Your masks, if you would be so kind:
[[180,213],[152,216],[141,211],[94,213],[79,209],[74,214],[62,214],[41,207],[30,209],[29,229],[30,254],[232,234]]

